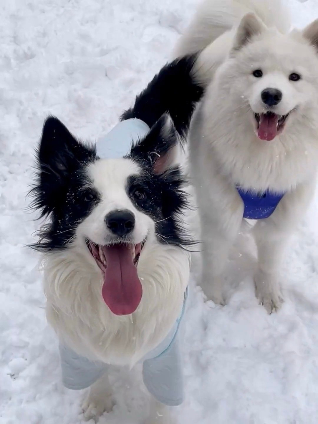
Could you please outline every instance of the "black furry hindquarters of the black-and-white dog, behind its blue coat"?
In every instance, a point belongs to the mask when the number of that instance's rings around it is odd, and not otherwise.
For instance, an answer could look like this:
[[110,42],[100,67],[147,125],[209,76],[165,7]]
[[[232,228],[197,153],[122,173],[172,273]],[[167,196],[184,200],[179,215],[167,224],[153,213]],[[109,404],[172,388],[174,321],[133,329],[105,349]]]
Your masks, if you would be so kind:
[[179,134],[185,135],[195,104],[204,91],[195,81],[193,67],[197,56],[184,56],[166,64],[137,96],[134,106],[122,114],[121,120],[139,118],[151,128],[167,112]]

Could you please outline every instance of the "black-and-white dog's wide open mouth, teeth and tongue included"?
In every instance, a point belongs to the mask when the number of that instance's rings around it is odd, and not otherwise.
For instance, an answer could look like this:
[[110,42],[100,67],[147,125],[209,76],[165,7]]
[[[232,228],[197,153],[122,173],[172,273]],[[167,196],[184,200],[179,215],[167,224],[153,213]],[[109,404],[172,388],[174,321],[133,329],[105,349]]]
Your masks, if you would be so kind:
[[142,298],[142,285],[137,273],[140,252],[145,244],[117,243],[96,245],[87,240],[86,245],[102,271],[102,296],[115,315],[130,315]]

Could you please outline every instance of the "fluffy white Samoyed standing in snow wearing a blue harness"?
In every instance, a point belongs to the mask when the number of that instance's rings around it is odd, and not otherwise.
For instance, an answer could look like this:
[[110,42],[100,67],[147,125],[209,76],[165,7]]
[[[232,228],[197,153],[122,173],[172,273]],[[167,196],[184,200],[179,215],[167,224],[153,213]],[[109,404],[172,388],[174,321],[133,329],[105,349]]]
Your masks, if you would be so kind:
[[282,302],[285,246],[316,184],[318,20],[291,31],[279,0],[206,0],[175,54],[202,49],[207,88],[189,137],[202,288],[224,303],[229,248],[242,219],[256,220],[256,296],[272,312]]

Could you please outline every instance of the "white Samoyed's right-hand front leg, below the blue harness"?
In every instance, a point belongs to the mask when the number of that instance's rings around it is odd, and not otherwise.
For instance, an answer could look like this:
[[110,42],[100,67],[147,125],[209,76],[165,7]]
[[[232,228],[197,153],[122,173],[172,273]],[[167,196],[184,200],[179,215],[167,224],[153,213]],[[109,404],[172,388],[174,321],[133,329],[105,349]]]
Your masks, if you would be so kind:
[[279,271],[285,246],[306,212],[312,198],[313,184],[300,185],[287,193],[271,217],[259,220],[253,232],[258,250],[258,271],[254,282],[256,296],[268,313],[279,309],[282,296],[279,288]]

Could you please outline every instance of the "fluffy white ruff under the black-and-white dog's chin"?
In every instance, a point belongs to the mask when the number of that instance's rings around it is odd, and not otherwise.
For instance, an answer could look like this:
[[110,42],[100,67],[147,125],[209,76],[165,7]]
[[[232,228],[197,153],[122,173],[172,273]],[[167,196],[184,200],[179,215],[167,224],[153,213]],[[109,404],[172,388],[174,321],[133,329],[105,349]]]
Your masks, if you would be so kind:
[[59,339],[91,360],[132,366],[178,318],[190,258],[180,248],[148,240],[138,264],[142,301],[126,316],[112,314],[103,301],[101,272],[84,243],[47,254],[44,272],[47,320]]

